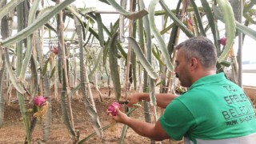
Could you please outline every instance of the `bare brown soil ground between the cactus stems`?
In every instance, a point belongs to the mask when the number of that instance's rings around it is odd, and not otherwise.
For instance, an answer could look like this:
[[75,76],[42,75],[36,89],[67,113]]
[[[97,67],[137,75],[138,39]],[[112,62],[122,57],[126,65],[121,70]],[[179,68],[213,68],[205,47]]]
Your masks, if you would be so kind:
[[[103,102],[100,102],[98,98],[98,93],[96,90],[92,90],[94,95],[94,102],[96,105],[96,109],[98,111],[99,121],[101,122],[102,127],[110,124],[110,120],[106,115],[106,109],[110,105],[110,103],[114,102],[114,90],[111,90],[111,94],[109,97],[109,90],[107,88],[101,88]],[[14,91],[14,90],[13,90]],[[122,93],[124,94],[124,93]],[[7,98],[7,96],[5,96]],[[10,104],[5,104],[4,110],[4,124],[0,128],[0,143],[24,143],[26,138],[25,127],[22,123],[22,117],[19,111],[18,101],[16,99],[16,94],[13,92],[12,94],[12,102]],[[7,99],[6,99],[7,100]],[[79,93],[78,96],[74,96],[72,98],[72,110],[74,115],[74,128],[75,130],[80,131],[80,139],[86,138],[88,135],[94,132],[92,124],[90,122],[90,115],[87,114],[85,105],[82,101],[82,94]],[[29,107],[29,105],[27,105]],[[74,143],[66,126],[63,122],[61,104],[57,101],[57,99],[52,98],[51,102],[52,106],[52,122],[51,122],[51,132],[50,138],[47,142],[42,142],[42,124],[41,122],[37,122],[34,132],[32,134],[32,143],[50,143],[50,144],[62,144],[62,143]],[[158,114],[160,114],[161,110],[158,109]],[[132,118],[144,120],[143,108],[138,108],[134,110],[134,112],[130,115]],[[122,134],[122,127],[124,125],[120,123],[116,123],[114,126],[114,130],[104,130],[104,143],[107,144],[116,144],[119,142],[119,139]],[[101,139],[95,135],[92,138],[89,138],[85,143],[102,143]],[[124,144],[142,144],[142,143],[151,143],[149,138],[144,138],[134,132],[132,129],[128,129],[126,133],[126,137],[123,141]],[[156,142],[160,143],[160,142]],[[174,142],[170,140],[162,141],[162,144],[178,144],[183,142]]]

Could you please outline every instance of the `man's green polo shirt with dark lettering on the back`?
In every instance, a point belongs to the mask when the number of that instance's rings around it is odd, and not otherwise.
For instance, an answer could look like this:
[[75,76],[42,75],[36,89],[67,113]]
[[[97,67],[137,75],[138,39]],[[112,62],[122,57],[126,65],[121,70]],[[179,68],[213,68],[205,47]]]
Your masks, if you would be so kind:
[[223,73],[200,78],[175,98],[159,119],[174,140],[190,142],[246,138],[256,133],[256,117],[243,90]]

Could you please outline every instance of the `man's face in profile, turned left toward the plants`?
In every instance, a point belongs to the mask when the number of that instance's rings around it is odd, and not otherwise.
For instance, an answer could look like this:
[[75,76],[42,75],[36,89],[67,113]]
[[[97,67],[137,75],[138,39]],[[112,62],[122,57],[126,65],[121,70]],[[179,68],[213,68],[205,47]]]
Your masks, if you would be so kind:
[[190,63],[186,62],[183,49],[180,48],[177,52],[174,72],[176,74],[176,77],[181,82],[181,86],[184,86],[184,87],[190,87],[192,84],[189,66],[190,66]]

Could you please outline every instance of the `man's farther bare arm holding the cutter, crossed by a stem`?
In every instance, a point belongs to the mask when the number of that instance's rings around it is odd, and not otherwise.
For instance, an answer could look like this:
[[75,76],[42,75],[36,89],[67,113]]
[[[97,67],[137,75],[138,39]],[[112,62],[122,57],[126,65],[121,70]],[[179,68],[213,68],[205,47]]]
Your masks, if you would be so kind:
[[[177,98],[178,95],[175,94],[155,94],[157,106],[161,108],[166,108],[166,106],[174,99]],[[129,103],[127,104],[128,107],[133,106],[133,104],[138,103],[142,100],[150,101],[150,94],[149,93],[138,93],[130,95],[128,98]]]

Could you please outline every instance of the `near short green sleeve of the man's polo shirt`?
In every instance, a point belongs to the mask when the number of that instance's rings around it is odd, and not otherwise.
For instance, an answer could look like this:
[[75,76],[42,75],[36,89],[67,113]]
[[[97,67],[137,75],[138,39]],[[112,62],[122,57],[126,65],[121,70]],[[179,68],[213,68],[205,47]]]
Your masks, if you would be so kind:
[[186,133],[195,124],[190,110],[178,98],[174,99],[166,107],[159,122],[170,138],[176,141],[182,140],[183,136],[186,136]]

